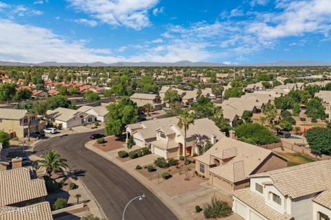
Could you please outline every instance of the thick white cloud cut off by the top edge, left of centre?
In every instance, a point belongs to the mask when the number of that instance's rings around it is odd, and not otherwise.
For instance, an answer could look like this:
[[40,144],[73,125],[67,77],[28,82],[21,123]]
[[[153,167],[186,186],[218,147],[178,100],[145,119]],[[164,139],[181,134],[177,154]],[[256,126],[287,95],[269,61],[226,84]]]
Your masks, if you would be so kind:
[[67,0],[72,7],[112,26],[141,30],[150,25],[148,10],[159,0]]

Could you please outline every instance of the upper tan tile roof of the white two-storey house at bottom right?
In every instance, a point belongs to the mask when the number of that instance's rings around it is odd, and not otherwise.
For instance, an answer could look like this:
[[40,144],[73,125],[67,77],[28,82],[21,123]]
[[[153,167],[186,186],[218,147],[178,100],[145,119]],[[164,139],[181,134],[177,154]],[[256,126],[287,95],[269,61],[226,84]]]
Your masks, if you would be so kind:
[[324,160],[257,173],[250,177],[270,177],[272,184],[283,195],[294,199],[326,190],[330,176],[331,160]]

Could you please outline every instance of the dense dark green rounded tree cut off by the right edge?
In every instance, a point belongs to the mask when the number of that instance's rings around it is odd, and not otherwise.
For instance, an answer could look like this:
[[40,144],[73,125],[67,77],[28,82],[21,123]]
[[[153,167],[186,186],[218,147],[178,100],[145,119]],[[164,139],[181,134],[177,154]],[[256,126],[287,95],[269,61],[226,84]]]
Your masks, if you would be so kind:
[[313,153],[331,155],[331,130],[325,128],[309,129],[306,133]]

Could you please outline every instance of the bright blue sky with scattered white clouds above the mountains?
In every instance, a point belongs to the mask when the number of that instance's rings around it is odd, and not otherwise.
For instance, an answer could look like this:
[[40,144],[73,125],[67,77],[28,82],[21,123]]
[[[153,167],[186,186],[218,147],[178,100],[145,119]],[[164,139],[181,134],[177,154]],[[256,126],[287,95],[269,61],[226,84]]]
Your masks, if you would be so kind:
[[330,0],[0,0],[0,60],[331,61]]

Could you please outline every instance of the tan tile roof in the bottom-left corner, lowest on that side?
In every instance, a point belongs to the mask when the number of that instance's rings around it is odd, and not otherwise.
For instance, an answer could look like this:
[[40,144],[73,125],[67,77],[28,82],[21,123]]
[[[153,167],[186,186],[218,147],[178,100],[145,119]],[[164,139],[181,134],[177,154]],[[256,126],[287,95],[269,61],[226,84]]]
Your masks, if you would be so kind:
[[[1,208],[1,206],[0,206]],[[2,206],[2,208],[9,210],[17,210],[16,212],[1,212],[1,220],[52,220],[52,211],[50,210],[50,203],[44,201],[23,208]]]

